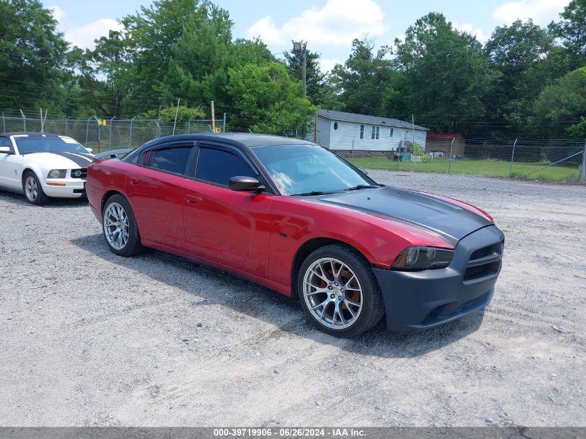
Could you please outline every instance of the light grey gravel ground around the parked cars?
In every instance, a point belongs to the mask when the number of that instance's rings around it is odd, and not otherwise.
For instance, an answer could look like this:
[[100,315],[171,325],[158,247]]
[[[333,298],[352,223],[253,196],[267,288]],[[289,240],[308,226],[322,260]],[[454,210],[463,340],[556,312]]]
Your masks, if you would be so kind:
[[370,175],[494,216],[485,311],[340,340],[218,270],[113,255],[81,200],[0,193],[0,425],[585,426],[586,187]]

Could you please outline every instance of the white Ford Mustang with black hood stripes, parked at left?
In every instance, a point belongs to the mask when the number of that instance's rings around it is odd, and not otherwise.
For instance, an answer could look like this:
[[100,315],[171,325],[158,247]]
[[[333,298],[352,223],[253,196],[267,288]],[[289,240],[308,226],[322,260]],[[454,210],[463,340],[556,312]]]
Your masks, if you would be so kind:
[[0,189],[24,193],[42,205],[50,197],[85,196],[92,150],[67,136],[41,132],[0,134]]

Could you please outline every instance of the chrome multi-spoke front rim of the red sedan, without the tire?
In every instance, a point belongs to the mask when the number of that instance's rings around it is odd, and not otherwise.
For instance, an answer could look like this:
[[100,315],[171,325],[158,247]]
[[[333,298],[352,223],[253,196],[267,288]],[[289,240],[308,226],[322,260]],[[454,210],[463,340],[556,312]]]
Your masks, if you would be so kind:
[[362,287],[354,271],[338,259],[323,257],[307,268],[303,298],[320,325],[346,329],[362,311]]

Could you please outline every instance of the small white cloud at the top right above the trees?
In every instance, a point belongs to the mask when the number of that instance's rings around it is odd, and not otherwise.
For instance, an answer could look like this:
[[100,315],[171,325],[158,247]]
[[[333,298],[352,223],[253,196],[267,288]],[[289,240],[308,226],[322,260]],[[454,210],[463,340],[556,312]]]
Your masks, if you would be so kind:
[[569,0],[519,0],[501,4],[492,12],[492,17],[500,24],[511,24],[517,19],[533,19],[535,24],[549,24],[557,21]]

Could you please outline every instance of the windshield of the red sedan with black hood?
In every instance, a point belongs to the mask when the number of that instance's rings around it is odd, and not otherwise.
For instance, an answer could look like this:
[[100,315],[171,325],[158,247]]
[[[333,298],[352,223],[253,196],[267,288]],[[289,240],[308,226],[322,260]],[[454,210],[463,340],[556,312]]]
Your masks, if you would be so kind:
[[376,184],[336,154],[317,145],[254,146],[251,148],[284,195],[338,192]]

